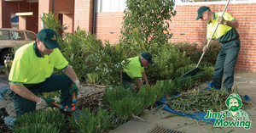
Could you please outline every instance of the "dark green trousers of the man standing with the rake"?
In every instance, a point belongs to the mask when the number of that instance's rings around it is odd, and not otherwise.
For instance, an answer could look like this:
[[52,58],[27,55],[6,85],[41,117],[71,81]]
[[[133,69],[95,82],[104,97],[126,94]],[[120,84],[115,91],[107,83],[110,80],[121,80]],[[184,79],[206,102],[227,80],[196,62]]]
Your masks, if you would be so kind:
[[220,89],[222,80],[224,79],[223,88],[231,91],[234,84],[234,69],[236,67],[236,60],[239,51],[239,39],[221,44],[221,49],[218,53],[212,79],[212,85],[215,88]]

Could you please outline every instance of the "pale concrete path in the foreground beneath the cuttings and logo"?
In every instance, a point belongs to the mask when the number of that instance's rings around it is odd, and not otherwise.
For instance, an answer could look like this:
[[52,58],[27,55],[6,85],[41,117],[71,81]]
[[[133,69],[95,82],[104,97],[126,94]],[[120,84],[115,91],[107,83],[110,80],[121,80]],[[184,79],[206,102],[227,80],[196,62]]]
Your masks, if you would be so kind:
[[[153,108],[145,111],[139,116],[144,119],[133,119],[119,128],[110,131],[111,133],[148,133],[160,132],[160,128],[166,129],[166,132],[178,130],[187,133],[254,133],[256,132],[256,73],[253,72],[236,72],[234,87],[238,88],[239,93],[246,92],[254,108],[246,110],[252,120],[252,126],[249,130],[243,127],[213,127],[205,122],[190,119],[188,117],[172,114],[166,110]],[[169,130],[168,130],[169,129]],[[164,131],[162,131],[164,132]]]

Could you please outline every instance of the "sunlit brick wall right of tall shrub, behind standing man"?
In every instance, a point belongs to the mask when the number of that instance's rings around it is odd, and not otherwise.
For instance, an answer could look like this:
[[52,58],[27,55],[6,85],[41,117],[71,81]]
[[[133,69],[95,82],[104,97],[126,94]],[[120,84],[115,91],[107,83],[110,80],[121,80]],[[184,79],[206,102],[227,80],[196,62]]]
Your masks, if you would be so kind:
[[[206,43],[207,24],[195,20],[197,9],[202,5],[180,5],[176,7],[177,15],[172,18],[172,42]],[[213,12],[222,12],[224,4],[206,5]],[[188,9],[189,8],[189,9]],[[237,19],[240,26],[236,30],[240,34],[241,50],[238,56],[236,69],[242,71],[256,71],[256,3],[230,4],[226,10]],[[180,33],[185,33],[181,36]]]

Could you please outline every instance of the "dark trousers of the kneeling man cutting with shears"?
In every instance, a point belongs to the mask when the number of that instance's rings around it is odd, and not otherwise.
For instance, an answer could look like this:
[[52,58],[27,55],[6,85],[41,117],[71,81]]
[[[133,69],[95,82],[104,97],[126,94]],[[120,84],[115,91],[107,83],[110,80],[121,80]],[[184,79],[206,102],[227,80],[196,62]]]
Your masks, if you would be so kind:
[[[32,93],[38,96],[39,92],[49,92],[61,90],[61,101],[60,104],[63,106],[72,104],[72,95],[69,94],[69,88],[73,81],[67,77],[67,75],[51,75],[43,83],[37,85],[25,85]],[[36,110],[36,104],[24,97],[20,97],[14,91],[11,92],[12,99],[15,104],[15,114],[18,117],[21,114],[26,114]],[[15,124],[15,118],[9,117],[5,119],[5,124],[13,128]]]

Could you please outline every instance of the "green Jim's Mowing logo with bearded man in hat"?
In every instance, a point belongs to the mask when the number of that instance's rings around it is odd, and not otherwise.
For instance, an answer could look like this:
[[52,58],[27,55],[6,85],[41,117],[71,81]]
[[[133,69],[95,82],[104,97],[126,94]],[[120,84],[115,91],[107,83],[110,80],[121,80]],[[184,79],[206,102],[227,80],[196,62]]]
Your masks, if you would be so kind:
[[248,114],[241,110],[241,98],[236,93],[230,94],[226,100],[226,106],[229,108],[221,112],[207,111],[205,119],[215,119],[214,127],[243,127],[250,129],[252,121]]

